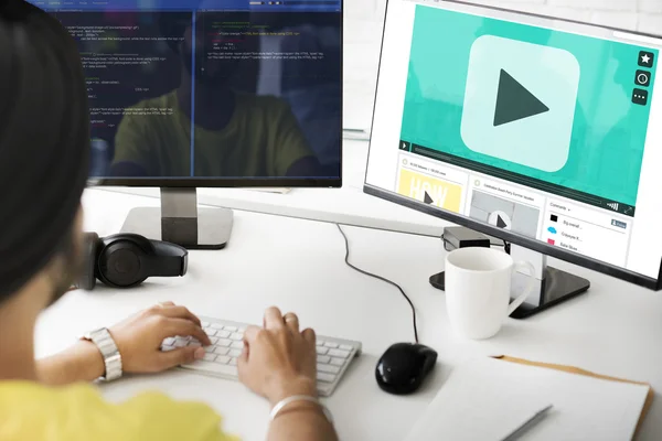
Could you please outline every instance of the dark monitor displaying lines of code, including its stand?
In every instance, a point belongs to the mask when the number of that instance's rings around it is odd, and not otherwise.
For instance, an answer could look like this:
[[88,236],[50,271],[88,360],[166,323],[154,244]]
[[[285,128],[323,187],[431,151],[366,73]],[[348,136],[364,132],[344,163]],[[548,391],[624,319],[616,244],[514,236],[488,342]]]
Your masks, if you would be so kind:
[[338,187],[342,0],[33,0],[75,37],[97,185],[161,187],[122,232],[221,248],[196,187]]

